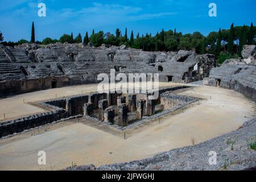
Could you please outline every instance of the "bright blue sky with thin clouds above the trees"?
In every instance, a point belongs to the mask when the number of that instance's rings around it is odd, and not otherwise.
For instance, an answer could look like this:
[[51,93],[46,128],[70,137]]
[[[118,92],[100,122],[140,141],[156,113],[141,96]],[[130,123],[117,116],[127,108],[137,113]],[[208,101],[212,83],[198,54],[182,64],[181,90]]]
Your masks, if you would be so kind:
[[[38,4],[46,3],[47,16],[38,16]],[[217,4],[217,17],[209,17],[209,3]],[[218,28],[243,24],[256,25],[255,0],[0,0],[0,31],[6,41],[30,40],[31,24],[35,22],[36,40],[63,34],[82,36],[93,28],[96,32],[122,33],[127,27],[134,35],[164,30],[184,33],[200,31],[207,35]]]

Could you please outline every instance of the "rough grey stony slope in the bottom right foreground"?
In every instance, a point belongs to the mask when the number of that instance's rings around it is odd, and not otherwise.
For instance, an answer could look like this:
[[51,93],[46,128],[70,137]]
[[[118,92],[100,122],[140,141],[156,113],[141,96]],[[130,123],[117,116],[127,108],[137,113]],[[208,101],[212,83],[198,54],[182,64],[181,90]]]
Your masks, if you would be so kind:
[[[152,158],[98,168],[93,165],[71,167],[67,170],[244,170],[256,167],[256,151],[248,146],[248,142],[254,140],[255,136],[256,118],[245,122],[232,133],[195,146],[163,152]],[[234,142],[233,147],[228,141]],[[209,164],[210,151],[217,154],[216,164]]]

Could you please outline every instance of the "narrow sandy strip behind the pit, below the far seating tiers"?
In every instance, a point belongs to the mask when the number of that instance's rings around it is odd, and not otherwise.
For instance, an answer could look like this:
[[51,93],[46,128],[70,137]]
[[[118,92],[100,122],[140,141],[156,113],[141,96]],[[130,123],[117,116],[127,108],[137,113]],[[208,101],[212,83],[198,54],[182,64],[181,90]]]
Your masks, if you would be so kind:
[[[136,84],[138,85],[138,84]],[[159,86],[177,85],[175,83],[160,82]],[[19,94],[8,98],[0,99],[0,122],[11,119],[25,117],[27,115],[43,113],[42,108],[31,105],[29,102],[38,102],[57,97],[73,96],[82,93],[96,92],[97,84],[68,86],[65,88],[56,88],[41,90],[26,94]],[[23,103],[24,100],[24,103]],[[4,116],[5,114],[5,116]]]

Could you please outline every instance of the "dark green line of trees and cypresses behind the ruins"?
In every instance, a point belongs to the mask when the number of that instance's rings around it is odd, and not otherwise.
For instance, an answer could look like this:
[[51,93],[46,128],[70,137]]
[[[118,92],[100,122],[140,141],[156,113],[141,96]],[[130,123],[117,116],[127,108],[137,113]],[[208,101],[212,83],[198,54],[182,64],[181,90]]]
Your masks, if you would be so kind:
[[178,51],[193,50],[196,53],[212,53],[214,54],[219,63],[222,63],[225,59],[241,56],[242,47],[245,44],[255,44],[256,27],[253,23],[250,26],[234,26],[234,23],[230,26],[230,29],[221,29],[218,32],[210,32],[207,36],[204,36],[200,32],[193,32],[193,34],[183,34],[175,30],[160,31],[155,36],[150,34],[140,35],[139,33],[134,38],[133,31],[128,35],[127,28],[125,28],[125,34],[119,28],[115,30],[115,34],[110,32],[104,33],[103,31],[95,32],[93,30],[92,35],[88,35],[85,32],[84,39],[79,33],[73,38],[71,35],[64,34],[59,40],[45,38],[42,42],[35,41],[35,27],[32,23],[31,40],[30,42],[24,39],[19,42],[2,42],[3,36],[0,32],[0,41],[2,44],[8,46],[15,46],[22,43],[38,43],[38,44],[50,44],[50,43],[91,43],[94,47],[99,47],[101,44],[108,44],[110,46],[126,45],[127,47],[143,49],[143,51]]

